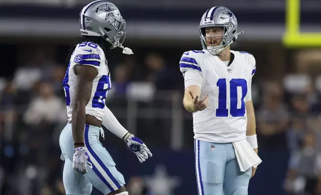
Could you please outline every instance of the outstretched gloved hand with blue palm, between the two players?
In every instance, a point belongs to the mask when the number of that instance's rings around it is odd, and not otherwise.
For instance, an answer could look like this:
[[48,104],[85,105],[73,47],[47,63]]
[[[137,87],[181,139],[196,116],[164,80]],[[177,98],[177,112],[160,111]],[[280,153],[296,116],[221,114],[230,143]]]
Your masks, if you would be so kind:
[[144,142],[140,138],[135,137],[133,134],[128,133],[128,135],[125,136],[124,141],[129,149],[136,154],[141,163],[153,156],[150,149],[148,149]]

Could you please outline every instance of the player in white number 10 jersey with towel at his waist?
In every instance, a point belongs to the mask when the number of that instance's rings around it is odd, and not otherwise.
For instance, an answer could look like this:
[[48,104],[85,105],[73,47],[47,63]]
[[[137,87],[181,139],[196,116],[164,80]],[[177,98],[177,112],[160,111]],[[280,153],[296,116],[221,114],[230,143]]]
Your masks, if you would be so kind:
[[184,52],[179,62],[183,104],[193,113],[198,195],[247,195],[262,162],[251,100],[255,59],[230,50],[240,33],[226,7],[208,9],[198,29],[203,50]]

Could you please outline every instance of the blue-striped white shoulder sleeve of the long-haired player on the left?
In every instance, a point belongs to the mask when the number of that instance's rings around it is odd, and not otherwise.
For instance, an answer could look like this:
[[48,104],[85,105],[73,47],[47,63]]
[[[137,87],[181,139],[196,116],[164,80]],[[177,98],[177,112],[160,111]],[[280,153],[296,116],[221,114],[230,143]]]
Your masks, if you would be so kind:
[[99,46],[91,42],[85,46],[82,46],[82,44],[76,47],[72,59],[73,62],[75,65],[92,66],[96,68],[99,73],[99,67],[101,64],[101,55],[98,49]]

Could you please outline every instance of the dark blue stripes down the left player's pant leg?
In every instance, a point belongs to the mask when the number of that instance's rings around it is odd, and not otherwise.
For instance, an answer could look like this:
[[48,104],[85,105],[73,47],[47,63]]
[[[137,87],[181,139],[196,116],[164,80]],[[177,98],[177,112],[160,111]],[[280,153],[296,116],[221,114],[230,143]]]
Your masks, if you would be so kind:
[[[94,157],[94,159],[98,162],[98,164],[103,168],[103,170],[106,172],[108,177],[114,182],[116,187],[118,189],[121,189],[121,185],[118,183],[118,181],[114,178],[114,176],[110,173],[109,169],[105,166],[105,164],[101,161],[101,159],[98,157],[98,155],[94,152],[94,150],[91,148],[89,143],[89,125],[85,125],[85,145],[90,152],[90,154]],[[114,192],[115,190],[111,187],[111,185],[107,182],[107,180],[103,177],[103,175],[98,171],[98,169],[93,165],[93,171],[97,174],[97,176],[106,184],[106,186],[109,188],[111,192]],[[95,168],[94,168],[95,167]]]

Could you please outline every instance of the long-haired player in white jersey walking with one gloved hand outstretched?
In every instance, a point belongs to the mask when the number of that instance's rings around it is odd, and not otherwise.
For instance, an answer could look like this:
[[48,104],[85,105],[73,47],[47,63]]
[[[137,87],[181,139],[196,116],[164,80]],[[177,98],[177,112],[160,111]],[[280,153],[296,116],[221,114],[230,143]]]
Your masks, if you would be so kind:
[[100,133],[104,136],[103,125],[122,138],[141,163],[152,156],[143,141],[129,133],[105,105],[111,89],[111,49],[120,47],[123,53],[133,54],[122,46],[125,20],[113,3],[96,0],[81,10],[80,31],[83,37],[70,50],[63,80],[69,122],[59,144],[65,161],[66,195],[90,195],[92,186],[104,195],[128,195],[123,175],[99,141]]

